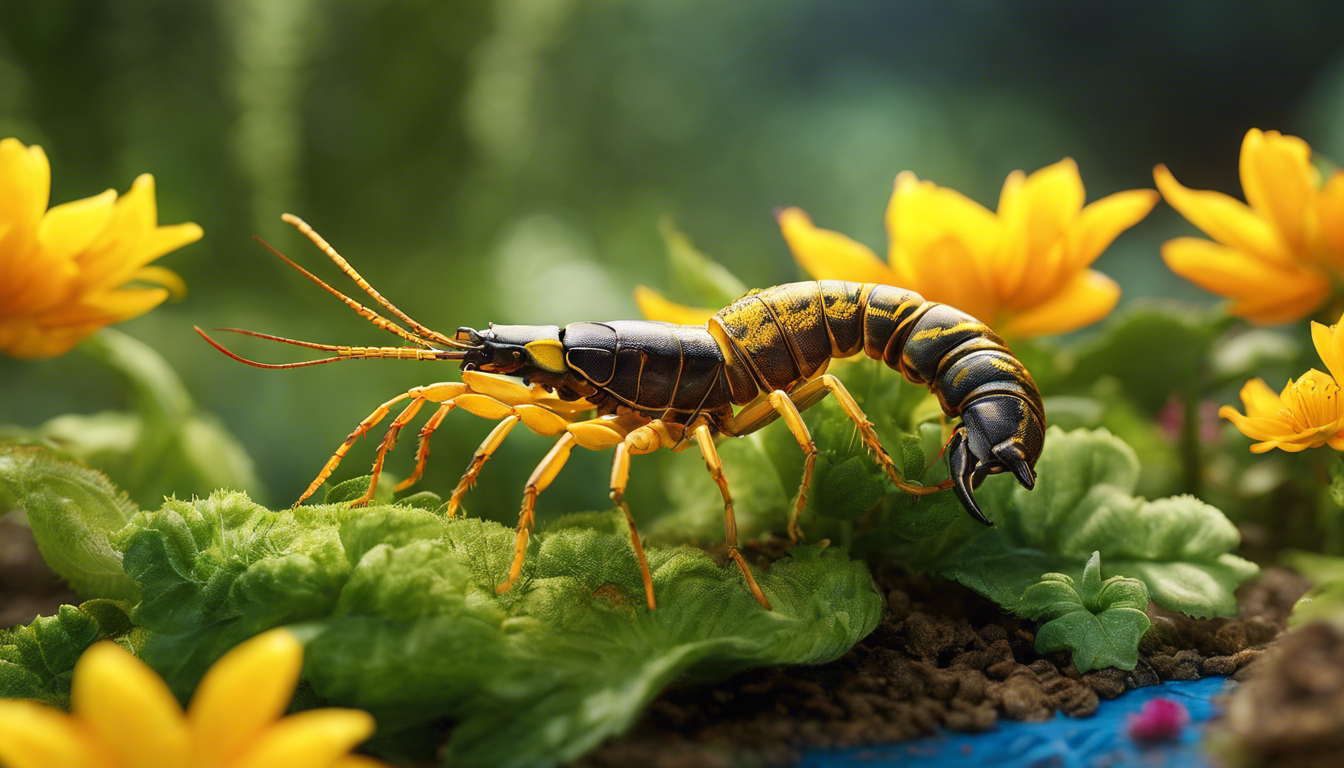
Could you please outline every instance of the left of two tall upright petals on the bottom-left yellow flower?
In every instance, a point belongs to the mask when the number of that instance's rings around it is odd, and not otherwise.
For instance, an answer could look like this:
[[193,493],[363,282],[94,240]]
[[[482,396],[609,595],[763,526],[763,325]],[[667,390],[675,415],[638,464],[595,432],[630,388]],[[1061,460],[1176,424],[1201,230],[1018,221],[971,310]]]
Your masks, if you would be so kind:
[[79,656],[70,690],[71,713],[87,724],[125,768],[185,768],[187,718],[142,662],[112,642]]

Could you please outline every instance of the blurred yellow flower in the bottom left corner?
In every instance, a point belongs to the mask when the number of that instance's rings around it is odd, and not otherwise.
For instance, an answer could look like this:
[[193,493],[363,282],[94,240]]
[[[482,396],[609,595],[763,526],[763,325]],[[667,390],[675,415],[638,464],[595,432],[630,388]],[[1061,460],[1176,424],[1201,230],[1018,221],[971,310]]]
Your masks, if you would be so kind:
[[206,673],[184,713],[168,686],[114,643],[75,664],[70,714],[0,699],[8,768],[375,768],[348,755],[374,732],[368,713],[316,709],[281,717],[298,683],[302,646],[285,629],[258,635]]

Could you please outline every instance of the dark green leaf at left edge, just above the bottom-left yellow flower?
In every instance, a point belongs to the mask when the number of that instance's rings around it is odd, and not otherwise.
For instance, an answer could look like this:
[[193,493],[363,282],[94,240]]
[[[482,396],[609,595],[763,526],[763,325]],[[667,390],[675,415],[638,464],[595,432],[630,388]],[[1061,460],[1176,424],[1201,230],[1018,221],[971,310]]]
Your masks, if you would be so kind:
[[27,627],[0,631],[0,698],[30,698],[52,706],[70,703],[70,677],[89,646],[126,636],[125,604],[90,600],[62,605],[55,616],[39,616]]

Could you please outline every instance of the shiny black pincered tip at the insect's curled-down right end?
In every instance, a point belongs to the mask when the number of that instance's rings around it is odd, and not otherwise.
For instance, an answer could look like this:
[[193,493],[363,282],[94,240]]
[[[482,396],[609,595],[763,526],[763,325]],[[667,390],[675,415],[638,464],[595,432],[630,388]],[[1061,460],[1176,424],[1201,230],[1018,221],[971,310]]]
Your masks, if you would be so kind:
[[974,495],[974,488],[989,475],[1012,472],[1024,488],[1036,484],[1035,467],[1044,436],[1044,420],[1020,397],[989,395],[962,406],[961,425],[948,444],[948,468],[952,487],[970,516],[992,525]]

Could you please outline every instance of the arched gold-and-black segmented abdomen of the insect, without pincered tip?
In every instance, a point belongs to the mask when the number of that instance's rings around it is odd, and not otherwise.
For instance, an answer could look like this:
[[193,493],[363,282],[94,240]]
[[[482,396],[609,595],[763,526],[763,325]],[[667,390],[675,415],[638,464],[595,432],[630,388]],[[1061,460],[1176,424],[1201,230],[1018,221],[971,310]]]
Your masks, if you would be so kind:
[[839,280],[775,285],[720,309],[710,332],[730,358],[739,405],[761,390],[788,391],[831,358],[863,351],[929,385],[949,416],[993,393],[1043,413],[1031,374],[988,325],[903,288]]

